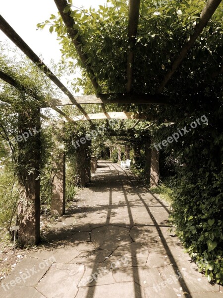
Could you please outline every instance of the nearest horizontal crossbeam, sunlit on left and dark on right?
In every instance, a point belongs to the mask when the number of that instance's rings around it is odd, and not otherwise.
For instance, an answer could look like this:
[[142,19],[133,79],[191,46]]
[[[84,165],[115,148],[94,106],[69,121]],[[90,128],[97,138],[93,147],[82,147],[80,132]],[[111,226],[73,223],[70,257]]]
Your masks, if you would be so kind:
[[[132,93],[117,93],[117,94],[93,94],[76,96],[75,100],[79,104],[102,104],[102,103],[116,103],[116,104],[174,104],[171,103],[168,96],[162,94],[132,94]],[[68,99],[52,99],[50,107],[73,104]],[[47,107],[47,106],[46,106]],[[48,105],[49,107],[49,105]]]

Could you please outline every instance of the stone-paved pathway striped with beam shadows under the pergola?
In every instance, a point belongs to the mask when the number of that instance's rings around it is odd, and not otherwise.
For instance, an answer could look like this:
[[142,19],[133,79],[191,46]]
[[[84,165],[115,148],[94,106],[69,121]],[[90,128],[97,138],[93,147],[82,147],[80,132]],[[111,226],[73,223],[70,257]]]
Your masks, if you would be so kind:
[[169,233],[167,204],[100,161],[63,221],[0,284],[1,298],[223,298]]

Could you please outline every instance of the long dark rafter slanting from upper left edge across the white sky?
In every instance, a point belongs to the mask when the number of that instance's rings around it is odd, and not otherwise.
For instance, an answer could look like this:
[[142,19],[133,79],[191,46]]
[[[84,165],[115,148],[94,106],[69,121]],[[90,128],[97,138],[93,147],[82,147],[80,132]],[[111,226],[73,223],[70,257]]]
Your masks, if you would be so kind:
[[[33,52],[33,50],[24,42],[24,40],[15,32],[15,30],[5,21],[5,19],[0,15],[0,30],[33,62],[39,67],[55,84],[59,89],[65,93],[72,104],[84,115],[87,112],[75,101],[72,93],[61,83],[61,81],[56,77],[55,74],[43,63],[43,61]],[[91,122],[91,121],[90,121]],[[93,125],[93,123],[91,122]]]

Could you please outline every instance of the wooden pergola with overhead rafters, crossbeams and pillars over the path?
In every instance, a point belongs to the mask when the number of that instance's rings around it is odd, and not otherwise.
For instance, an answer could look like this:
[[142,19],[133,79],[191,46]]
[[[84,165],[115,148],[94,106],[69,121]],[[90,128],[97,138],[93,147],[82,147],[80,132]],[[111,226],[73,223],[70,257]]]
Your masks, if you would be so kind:
[[[101,86],[99,86],[96,76],[88,64],[88,54],[84,53],[81,45],[84,43],[82,37],[78,34],[79,32],[75,28],[75,22],[72,16],[70,16],[71,11],[68,12],[65,8],[68,3],[66,0],[54,0],[58,11],[62,17],[64,25],[67,28],[68,38],[72,40],[72,43],[82,61],[83,67],[86,69],[87,74],[91,80],[91,83],[95,89],[95,94],[74,96],[64,84],[56,77],[56,75],[43,63],[43,61],[33,52],[33,50],[27,45],[25,41],[15,32],[15,30],[0,16],[0,29],[5,35],[44,73],[46,74],[56,86],[65,94],[66,98],[54,99],[50,103],[43,101],[43,99],[35,92],[21,85],[14,78],[0,71],[0,78],[12,85],[13,87],[25,92],[29,96],[33,97],[37,102],[41,102],[37,111],[33,111],[32,123],[37,123],[37,127],[40,126],[39,120],[41,117],[41,108],[50,107],[59,113],[65,121],[72,122],[74,125],[77,121],[88,121],[92,128],[95,127],[94,120],[105,119],[107,122],[110,119],[120,119],[121,125],[124,120],[135,119],[136,122],[129,131],[129,134],[134,134],[134,128],[141,120],[152,120],[148,117],[146,112],[144,114],[133,115],[125,110],[117,112],[108,112],[107,104],[124,104],[127,107],[128,104],[144,104],[150,107],[151,104],[156,105],[171,105],[170,98],[162,94],[162,91],[166,87],[168,81],[171,79],[174,72],[182,63],[183,59],[186,57],[188,51],[193,46],[196,39],[199,37],[202,30],[207,25],[208,21],[212,17],[213,13],[221,3],[221,0],[208,0],[205,7],[201,11],[199,22],[195,25],[193,34],[182,44],[179,54],[171,62],[171,67],[165,74],[163,80],[160,82],[159,87],[155,94],[134,94],[131,92],[131,86],[133,81],[133,66],[134,66],[134,45],[136,42],[137,27],[139,20],[140,11],[140,0],[129,0],[129,23],[128,23],[128,55],[127,55],[127,65],[126,65],[126,92],[123,94],[102,94],[100,92]],[[65,9],[65,10],[64,10]],[[76,36],[78,36],[76,38]],[[215,77],[223,71],[223,67],[219,72],[214,73],[212,76]],[[88,114],[84,109],[83,105],[86,104],[100,104],[102,107],[102,112],[97,114]],[[65,105],[75,105],[80,111],[80,115],[70,116],[62,111],[59,107]],[[147,111],[147,110],[146,110]],[[25,117],[25,115],[23,115]],[[153,118],[155,119],[155,118]],[[108,122],[109,125],[109,122]],[[114,131],[111,132],[111,136],[118,136]],[[121,134],[119,133],[119,136]],[[38,141],[37,141],[38,147]],[[30,153],[31,154],[31,153]],[[36,160],[33,162],[33,167],[36,169],[34,174],[23,173],[24,180],[24,198],[25,201],[22,206],[20,206],[19,225],[20,225],[20,239],[22,243],[38,243],[40,240],[40,182],[37,180],[39,161],[40,161],[40,150],[37,148]],[[152,156],[152,157],[151,157]],[[29,159],[30,156],[25,156],[24,159]],[[158,156],[156,152],[151,152],[149,150],[149,143],[146,146],[146,160],[147,166],[149,168],[156,167],[158,162]],[[59,161],[60,171],[58,172],[54,180],[54,191],[52,198],[52,213],[61,215],[65,210],[65,196],[64,196],[64,177],[65,177],[65,167],[64,167],[64,156],[61,156]],[[150,170],[149,170],[150,172]],[[29,206],[29,208],[27,208]]]

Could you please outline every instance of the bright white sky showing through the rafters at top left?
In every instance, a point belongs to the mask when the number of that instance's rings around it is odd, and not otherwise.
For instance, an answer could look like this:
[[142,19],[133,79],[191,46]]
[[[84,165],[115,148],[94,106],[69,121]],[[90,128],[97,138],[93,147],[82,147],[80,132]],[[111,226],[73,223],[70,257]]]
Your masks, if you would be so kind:
[[[106,0],[74,0],[75,6],[97,8]],[[51,14],[56,14],[54,0],[10,0],[0,1],[0,14],[9,25],[21,36],[30,48],[49,66],[50,60],[60,59],[59,44],[56,33],[50,33],[48,28],[36,30],[37,23],[45,21]],[[0,31],[0,40],[7,37]]]

